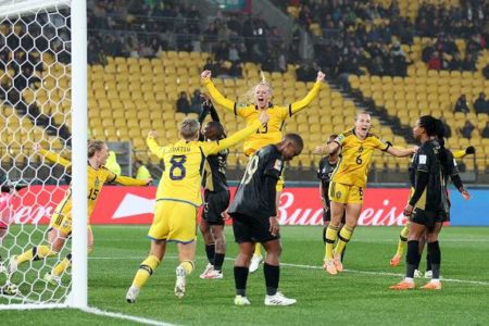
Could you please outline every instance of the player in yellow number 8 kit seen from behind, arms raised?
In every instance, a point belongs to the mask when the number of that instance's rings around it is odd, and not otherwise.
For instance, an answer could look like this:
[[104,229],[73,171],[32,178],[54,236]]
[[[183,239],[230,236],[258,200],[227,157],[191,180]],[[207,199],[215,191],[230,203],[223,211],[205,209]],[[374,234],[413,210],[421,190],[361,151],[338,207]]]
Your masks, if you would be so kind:
[[177,242],[175,296],[183,298],[186,277],[195,268],[197,209],[202,204],[201,181],[205,158],[217,154],[250,136],[268,122],[263,112],[260,118],[244,129],[220,141],[198,141],[200,125],[196,118],[186,118],[180,125],[181,139],[166,147],[159,147],[155,133],[147,138],[153,154],[163,160],[165,170],[158,186],[153,223],[148,233],[151,239],[149,256],[142,261],[129,287],[126,300],[136,302],[142,286],[156,269],[166,251],[167,242]]

